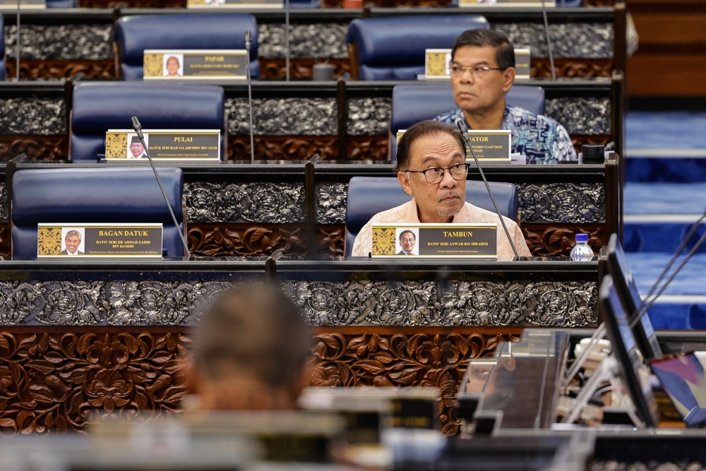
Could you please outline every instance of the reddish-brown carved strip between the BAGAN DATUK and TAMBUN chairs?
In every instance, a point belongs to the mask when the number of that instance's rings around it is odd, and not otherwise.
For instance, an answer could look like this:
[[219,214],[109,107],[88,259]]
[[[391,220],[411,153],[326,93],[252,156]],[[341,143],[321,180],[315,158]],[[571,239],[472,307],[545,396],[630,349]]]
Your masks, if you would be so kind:
[[[190,224],[188,229],[189,250],[194,256],[268,256],[277,249],[286,256],[306,255],[304,225]],[[318,255],[342,256],[344,239],[344,225],[318,226]]]

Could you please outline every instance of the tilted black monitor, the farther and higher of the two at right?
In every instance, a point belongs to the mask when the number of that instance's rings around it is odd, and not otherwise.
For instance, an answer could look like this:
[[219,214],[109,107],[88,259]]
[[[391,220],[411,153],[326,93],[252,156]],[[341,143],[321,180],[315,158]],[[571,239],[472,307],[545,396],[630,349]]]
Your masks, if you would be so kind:
[[[623,247],[618,241],[617,234],[612,234],[608,242],[608,270],[613,277],[616,290],[618,290],[618,297],[623,303],[623,309],[628,313],[630,321],[633,321],[633,317],[637,316],[638,309],[642,306],[642,299],[640,299],[640,292],[638,292],[638,287],[635,285],[633,273],[630,271],[628,260]],[[645,313],[640,318],[640,322],[633,327],[633,333],[635,334],[635,340],[638,341],[640,346],[640,351],[645,355],[645,359],[662,357],[662,348],[659,347],[657,335],[654,333],[649,314]]]

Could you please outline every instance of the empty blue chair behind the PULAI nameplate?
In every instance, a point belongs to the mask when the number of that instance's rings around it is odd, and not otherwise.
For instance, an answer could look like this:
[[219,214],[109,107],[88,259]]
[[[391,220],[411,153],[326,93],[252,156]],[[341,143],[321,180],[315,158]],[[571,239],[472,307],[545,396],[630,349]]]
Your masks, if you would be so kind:
[[73,90],[69,129],[71,160],[95,160],[105,153],[108,129],[220,129],[227,145],[223,89],[177,83],[79,83]]

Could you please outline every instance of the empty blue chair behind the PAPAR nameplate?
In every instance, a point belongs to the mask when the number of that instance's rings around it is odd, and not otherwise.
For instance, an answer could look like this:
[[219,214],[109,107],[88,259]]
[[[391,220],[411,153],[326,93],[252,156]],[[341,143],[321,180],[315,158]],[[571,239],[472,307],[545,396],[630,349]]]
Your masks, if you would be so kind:
[[124,80],[142,80],[145,49],[245,49],[250,30],[251,76],[260,76],[258,24],[241,13],[124,16],[115,23],[116,64]]

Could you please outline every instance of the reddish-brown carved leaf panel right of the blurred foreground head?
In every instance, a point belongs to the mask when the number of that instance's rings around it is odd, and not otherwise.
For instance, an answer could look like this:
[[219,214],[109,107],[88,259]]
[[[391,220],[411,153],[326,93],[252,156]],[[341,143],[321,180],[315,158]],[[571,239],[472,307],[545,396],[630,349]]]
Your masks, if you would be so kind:
[[455,434],[455,395],[469,359],[487,357],[518,335],[456,333],[314,336],[312,386],[431,386],[441,390],[442,431]]

